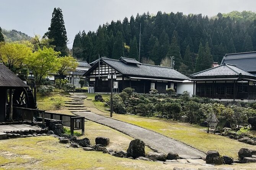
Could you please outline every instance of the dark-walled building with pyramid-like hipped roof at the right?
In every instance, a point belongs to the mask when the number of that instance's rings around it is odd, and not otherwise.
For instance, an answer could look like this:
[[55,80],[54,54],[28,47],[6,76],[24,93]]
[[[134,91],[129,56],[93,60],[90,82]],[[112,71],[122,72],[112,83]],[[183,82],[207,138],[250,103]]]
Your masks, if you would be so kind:
[[220,66],[192,74],[190,81],[194,82],[194,95],[200,97],[245,102],[256,99],[256,77],[232,64],[222,62]]

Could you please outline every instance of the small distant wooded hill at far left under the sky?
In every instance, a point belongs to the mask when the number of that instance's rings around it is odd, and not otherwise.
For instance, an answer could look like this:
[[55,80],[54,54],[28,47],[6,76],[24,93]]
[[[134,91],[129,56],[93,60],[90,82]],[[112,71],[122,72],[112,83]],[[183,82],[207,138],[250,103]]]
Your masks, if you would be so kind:
[[3,37],[5,38],[5,42],[14,42],[14,41],[31,39],[31,37],[29,37],[27,34],[17,31],[15,29],[13,30],[2,29],[2,34],[3,34]]

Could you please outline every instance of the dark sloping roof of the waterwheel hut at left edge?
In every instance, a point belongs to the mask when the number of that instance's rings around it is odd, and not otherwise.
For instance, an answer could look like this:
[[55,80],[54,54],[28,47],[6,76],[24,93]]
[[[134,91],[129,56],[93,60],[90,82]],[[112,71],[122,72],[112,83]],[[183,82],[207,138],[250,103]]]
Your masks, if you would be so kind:
[[0,87],[28,87],[28,85],[0,63]]

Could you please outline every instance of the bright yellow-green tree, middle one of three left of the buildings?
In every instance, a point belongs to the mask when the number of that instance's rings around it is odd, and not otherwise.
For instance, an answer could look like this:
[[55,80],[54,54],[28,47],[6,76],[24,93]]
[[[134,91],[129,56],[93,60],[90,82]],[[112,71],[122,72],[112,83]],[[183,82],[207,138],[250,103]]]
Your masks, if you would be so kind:
[[29,58],[26,58],[25,63],[35,77],[36,85],[40,86],[42,80],[50,74],[54,74],[60,68],[58,57],[60,52],[54,51],[53,48],[39,49],[35,51]]

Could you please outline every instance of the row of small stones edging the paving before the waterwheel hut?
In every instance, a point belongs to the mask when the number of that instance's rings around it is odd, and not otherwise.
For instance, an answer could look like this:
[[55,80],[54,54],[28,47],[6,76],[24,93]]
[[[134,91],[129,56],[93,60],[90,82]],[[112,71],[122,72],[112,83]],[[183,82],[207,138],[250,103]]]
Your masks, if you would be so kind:
[[26,138],[32,136],[47,136],[54,134],[52,131],[48,129],[38,129],[38,130],[13,130],[13,131],[6,131],[3,133],[7,133],[7,139],[10,138]]

